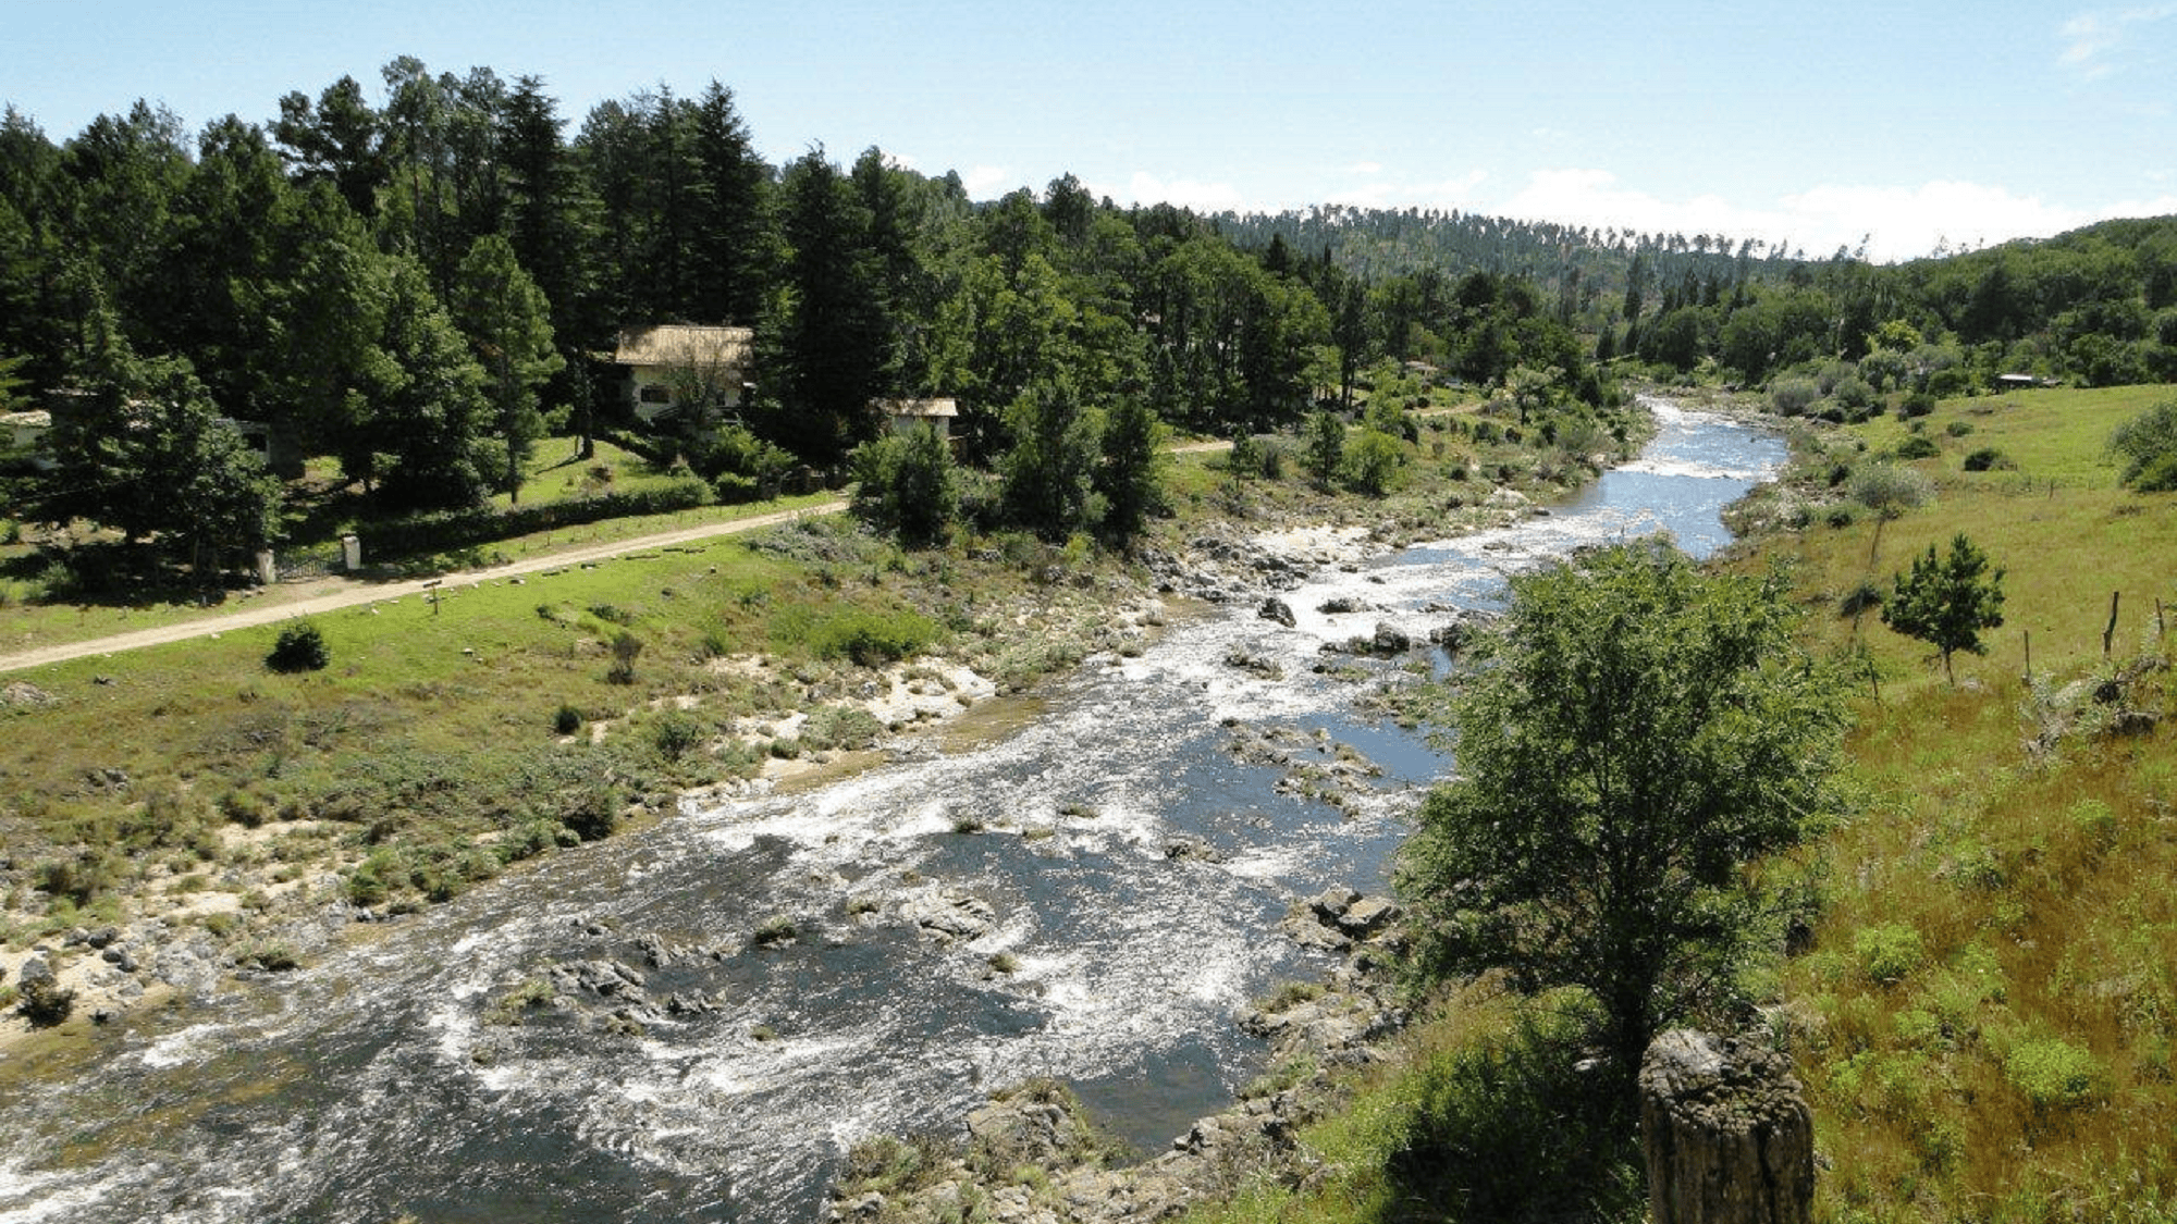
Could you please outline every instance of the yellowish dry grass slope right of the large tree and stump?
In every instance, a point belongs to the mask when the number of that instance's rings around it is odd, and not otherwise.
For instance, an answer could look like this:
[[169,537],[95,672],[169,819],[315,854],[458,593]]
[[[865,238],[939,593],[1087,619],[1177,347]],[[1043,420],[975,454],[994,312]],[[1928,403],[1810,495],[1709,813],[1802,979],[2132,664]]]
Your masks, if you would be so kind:
[[[1831,1161],[1822,1220],[2177,1217],[2177,723],[2107,734],[2077,686],[2168,658],[2155,599],[2177,612],[2177,499],[2116,490],[2101,455],[2168,394],[1946,403],[1929,429],[1944,453],[1918,464],[1940,497],[1883,527],[1872,566],[1870,521],[1763,549],[1798,560],[1818,636],[1857,640],[1881,677],[1850,745],[1868,806],[1829,841],[1816,950],[1783,974]],[[1948,438],[1946,420],[1975,429]],[[1868,427],[1874,451],[1896,436]],[[1959,473],[1983,444],[2020,470]],[[1835,605],[1957,531],[2007,568],[2007,603],[1951,688],[1924,645]],[[2166,671],[2118,703],[2177,714]]]

